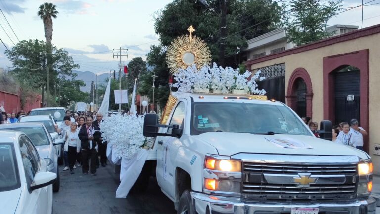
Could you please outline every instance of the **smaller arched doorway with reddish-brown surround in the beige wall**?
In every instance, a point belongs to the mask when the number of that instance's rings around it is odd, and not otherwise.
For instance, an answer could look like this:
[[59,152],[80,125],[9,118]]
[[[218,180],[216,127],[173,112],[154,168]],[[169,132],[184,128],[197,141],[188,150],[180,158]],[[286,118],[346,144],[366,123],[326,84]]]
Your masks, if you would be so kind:
[[297,68],[290,75],[287,86],[287,105],[300,117],[312,117],[313,87],[304,68]]

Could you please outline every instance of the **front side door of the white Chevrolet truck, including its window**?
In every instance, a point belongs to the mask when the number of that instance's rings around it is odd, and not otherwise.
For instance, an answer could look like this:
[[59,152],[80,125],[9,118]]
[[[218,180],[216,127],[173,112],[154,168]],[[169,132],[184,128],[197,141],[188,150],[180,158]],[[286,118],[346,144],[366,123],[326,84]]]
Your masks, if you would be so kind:
[[[186,101],[178,102],[171,118],[169,119],[169,125],[178,125],[180,128],[183,127],[186,112],[185,102]],[[169,128],[167,132],[171,133],[171,129]],[[172,163],[176,151],[178,150],[178,147],[174,146],[174,144],[176,141],[179,141],[179,139],[170,136],[158,136],[157,138],[157,182],[161,189],[174,199],[175,168]]]

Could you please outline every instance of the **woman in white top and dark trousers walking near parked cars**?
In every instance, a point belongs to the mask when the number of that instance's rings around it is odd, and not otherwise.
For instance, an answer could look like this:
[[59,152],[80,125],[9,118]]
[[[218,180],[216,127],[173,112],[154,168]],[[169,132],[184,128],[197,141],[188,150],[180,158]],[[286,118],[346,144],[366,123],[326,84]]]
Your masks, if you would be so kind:
[[67,140],[63,149],[64,151],[67,151],[70,173],[74,174],[75,160],[77,159],[77,154],[81,150],[81,141],[78,138],[79,131],[77,130],[77,124],[71,123],[70,131],[67,131],[66,133]]

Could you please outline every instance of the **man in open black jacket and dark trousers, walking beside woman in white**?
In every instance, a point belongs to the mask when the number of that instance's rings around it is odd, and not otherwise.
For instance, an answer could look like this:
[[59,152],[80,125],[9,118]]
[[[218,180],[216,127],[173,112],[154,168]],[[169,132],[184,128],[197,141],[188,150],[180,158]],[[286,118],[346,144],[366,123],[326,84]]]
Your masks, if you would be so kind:
[[94,127],[92,125],[93,118],[91,116],[86,117],[86,125],[82,126],[79,130],[78,137],[81,140],[82,148],[82,173],[89,173],[89,159],[91,175],[96,175],[96,159],[97,159],[97,145],[94,139]]

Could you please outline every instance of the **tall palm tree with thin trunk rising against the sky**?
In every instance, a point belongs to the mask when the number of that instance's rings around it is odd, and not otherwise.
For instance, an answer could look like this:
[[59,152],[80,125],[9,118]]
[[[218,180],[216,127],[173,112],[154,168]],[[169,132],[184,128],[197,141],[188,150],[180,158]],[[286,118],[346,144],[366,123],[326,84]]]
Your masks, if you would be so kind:
[[[51,59],[51,39],[53,37],[53,18],[57,17],[58,11],[55,9],[55,5],[52,3],[45,2],[44,4],[41,4],[39,7],[39,11],[37,15],[40,16],[40,18],[44,22],[44,29],[45,29],[45,38],[46,38],[46,45],[47,45],[47,95],[49,94],[49,66],[50,66],[50,59]],[[42,89],[44,91],[44,88]]]

